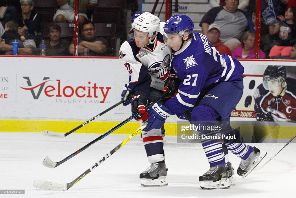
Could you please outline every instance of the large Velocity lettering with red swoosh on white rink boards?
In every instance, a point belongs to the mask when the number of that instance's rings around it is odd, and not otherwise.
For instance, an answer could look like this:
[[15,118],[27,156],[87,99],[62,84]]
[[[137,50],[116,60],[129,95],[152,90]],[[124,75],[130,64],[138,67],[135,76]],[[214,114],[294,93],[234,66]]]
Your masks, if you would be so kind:
[[[61,80],[49,80],[49,77],[44,77],[43,81],[32,85],[29,77],[23,77],[27,80],[28,87],[21,87],[24,90],[31,92],[34,99],[38,99],[43,92],[47,97],[78,97],[78,98],[100,98],[100,103],[104,103],[107,94],[111,87],[99,87],[96,83],[88,82],[88,85],[80,86],[62,86]],[[45,86],[46,83],[51,82],[52,85]]]

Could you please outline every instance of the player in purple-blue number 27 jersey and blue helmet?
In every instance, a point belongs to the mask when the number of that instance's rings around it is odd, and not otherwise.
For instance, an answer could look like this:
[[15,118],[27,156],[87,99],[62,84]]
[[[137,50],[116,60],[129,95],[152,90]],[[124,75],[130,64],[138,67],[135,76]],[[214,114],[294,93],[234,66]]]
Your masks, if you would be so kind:
[[[231,111],[243,93],[243,66],[235,58],[220,55],[204,35],[193,32],[193,22],[186,15],[170,17],[165,22],[164,31],[165,43],[173,50],[171,65],[181,84],[176,96],[148,110],[149,122],[144,131],[159,129],[170,115],[187,110],[192,110],[192,121],[229,121]],[[232,130],[229,122],[223,125],[223,133],[234,133],[240,137],[239,131]],[[225,145],[242,159],[238,175],[244,177],[258,163],[258,148],[245,143],[225,142]],[[214,144],[203,143],[202,146],[210,170],[199,177],[201,188],[229,188],[230,175],[221,140]]]

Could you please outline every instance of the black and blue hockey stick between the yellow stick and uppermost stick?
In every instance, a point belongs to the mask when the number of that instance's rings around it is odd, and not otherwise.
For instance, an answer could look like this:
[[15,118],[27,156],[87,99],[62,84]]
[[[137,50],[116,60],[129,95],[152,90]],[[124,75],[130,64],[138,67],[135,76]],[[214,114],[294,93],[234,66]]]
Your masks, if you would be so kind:
[[[147,109],[149,109],[150,107],[152,107],[153,104],[155,104],[156,102],[158,102],[162,97],[166,96],[170,91],[166,91],[165,93],[163,93],[162,95],[160,95],[157,99],[155,99],[154,101],[152,101],[148,106]],[[84,151],[86,148],[88,148],[89,146],[91,146],[92,144],[94,144],[95,142],[102,140],[104,137],[106,137],[107,135],[109,135],[110,133],[114,132],[115,130],[119,129],[121,126],[125,125],[127,122],[131,121],[133,118],[135,118],[138,115],[138,113],[131,115],[130,117],[126,118],[124,121],[122,121],[121,123],[119,123],[118,125],[114,126],[112,129],[110,129],[109,131],[107,131],[106,133],[102,134],[101,136],[97,137],[96,139],[94,139],[93,141],[89,142],[87,145],[83,146],[82,148],[78,149],[77,151],[75,151],[74,153],[72,153],[71,155],[65,157],[63,160],[55,162],[52,161],[51,159],[49,159],[48,156],[45,157],[44,161],[43,161],[43,165],[49,168],[55,168],[59,165],[61,165],[62,163],[64,163],[65,161],[68,161],[69,159],[71,159],[72,157],[74,157],[75,155],[77,155],[78,153],[81,153],[82,151]]]

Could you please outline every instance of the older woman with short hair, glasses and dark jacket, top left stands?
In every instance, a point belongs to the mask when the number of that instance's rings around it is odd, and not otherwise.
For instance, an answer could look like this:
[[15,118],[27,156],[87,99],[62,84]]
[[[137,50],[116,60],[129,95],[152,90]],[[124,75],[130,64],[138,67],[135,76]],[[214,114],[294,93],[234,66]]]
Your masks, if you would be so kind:
[[34,35],[41,30],[41,15],[34,8],[34,0],[20,0],[22,13],[17,22],[28,34]]

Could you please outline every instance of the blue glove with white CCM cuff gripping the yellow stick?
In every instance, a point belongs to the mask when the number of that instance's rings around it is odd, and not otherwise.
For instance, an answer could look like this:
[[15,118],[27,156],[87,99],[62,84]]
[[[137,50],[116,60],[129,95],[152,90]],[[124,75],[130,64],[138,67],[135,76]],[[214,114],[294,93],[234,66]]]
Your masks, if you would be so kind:
[[143,131],[160,129],[165,123],[165,120],[171,115],[172,112],[167,107],[157,102],[148,110],[148,124]]

